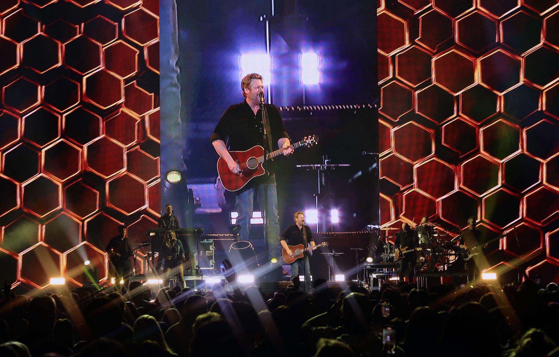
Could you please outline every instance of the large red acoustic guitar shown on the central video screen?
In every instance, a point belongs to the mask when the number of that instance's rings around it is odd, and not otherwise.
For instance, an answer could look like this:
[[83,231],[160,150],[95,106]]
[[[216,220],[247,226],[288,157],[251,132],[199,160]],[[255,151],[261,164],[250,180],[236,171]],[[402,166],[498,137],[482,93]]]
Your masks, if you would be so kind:
[[[318,136],[305,136],[305,139],[297,141],[295,144],[272,151],[266,155],[266,159],[272,160],[276,156],[282,155],[283,151],[287,150],[288,147],[295,150],[300,146],[310,147],[317,142]],[[234,174],[231,172],[224,159],[217,159],[217,173],[219,174],[219,180],[227,191],[238,191],[243,188],[244,185],[249,183],[250,180],[255,177],[262,176],[265,173],[263,168],[264,147],[257,145],[251,147],[247,151],[229,151],[229,154],[233,160],[239,163],[239,169],[241,171],[239,174]]]

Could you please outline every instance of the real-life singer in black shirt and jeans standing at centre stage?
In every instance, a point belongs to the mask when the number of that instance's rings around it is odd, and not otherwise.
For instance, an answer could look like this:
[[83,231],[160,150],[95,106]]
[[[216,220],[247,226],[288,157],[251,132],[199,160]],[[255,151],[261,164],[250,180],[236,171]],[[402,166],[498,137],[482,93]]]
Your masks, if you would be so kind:
[[[312,250],[315,250],[316,244],[314,238],[312,237],[311,229],[309,226],[304,226],[304,213],[295,212],[295,215],[293,215],[293,221],[295,221],[295,224],[288,226],[280,237],[280,243],[283,246],[283,249],[287,251],[289,256],[293,256],[295,252],[291,251],[287,247],[288,245],[302,244],[306,247],[306,244],[310,244]],[[304,258],[297,259],[291,263],[291,281],[295,278],[299,278],[301,271],[305,276],[305,291],[311,293],[311,268],[309,264],[309,255],[306,252],[304,253]]]

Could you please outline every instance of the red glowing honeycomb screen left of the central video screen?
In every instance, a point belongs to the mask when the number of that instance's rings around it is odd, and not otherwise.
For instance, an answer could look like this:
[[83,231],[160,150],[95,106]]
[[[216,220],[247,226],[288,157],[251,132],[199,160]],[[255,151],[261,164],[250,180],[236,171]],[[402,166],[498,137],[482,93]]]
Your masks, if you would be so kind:
[[0,277],[104,281],[117,226],[160,211],[159,1],[0,1],[0,25]]

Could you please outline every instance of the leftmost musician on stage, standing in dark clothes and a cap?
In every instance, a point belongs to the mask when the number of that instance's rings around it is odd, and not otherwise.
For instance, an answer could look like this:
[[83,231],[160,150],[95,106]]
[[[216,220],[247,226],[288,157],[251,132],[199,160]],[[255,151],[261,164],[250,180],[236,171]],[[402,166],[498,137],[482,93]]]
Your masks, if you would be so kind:
[[[119,235],[111,238],[105,251],[112,265],[115,266],[115,291],[120,291],[124,294],[130,286],[132,270],[132,264],[130,263],[132,247],[126,238],[126,226],[119,226]],[[120,283],[121,279],[124,280],[124,284]]]

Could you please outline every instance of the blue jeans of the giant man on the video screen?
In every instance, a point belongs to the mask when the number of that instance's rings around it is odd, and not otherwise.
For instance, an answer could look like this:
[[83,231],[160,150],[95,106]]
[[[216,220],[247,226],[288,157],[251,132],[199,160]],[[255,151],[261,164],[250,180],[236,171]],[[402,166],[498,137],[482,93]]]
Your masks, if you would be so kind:
[[[271,258],[281,258],[280,244],[280,216],[278,216],[278,197],[276,179],[268,179],[268,261]],[[254,193],[258,196],[260,210],[264,207],[264,184],[253,184],[249,188],[242,188],[235,196],[235,210],[239,212],[237,224],[241,226],[239,234],[243,240],[248,240],[250,231],[250,217],[254,208]]]

